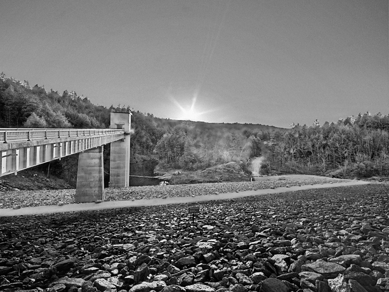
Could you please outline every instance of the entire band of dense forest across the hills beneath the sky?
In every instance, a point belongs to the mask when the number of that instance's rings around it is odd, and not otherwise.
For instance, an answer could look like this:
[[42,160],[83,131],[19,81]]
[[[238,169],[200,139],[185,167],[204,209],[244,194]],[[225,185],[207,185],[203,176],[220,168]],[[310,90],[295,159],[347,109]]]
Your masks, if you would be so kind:
[[[0,128],[108,128],[112,109],[94,105],[75,91],[47,92],[43,86],[31,88],[27,81],[0,74]],[[262,174],[340,169],[343,175],[389,175],[389,116],[381,113],[322,126],[317,120],[310,127],[292,123],[284,129],[184,122],[131,111],[131,160],[155,159],[162,169],[198,170],[231,161],[248,166],[262,156]],[[104,153],[108,173],[109,145]],[[74,183],[77,155],[53,162],[51,169]]]

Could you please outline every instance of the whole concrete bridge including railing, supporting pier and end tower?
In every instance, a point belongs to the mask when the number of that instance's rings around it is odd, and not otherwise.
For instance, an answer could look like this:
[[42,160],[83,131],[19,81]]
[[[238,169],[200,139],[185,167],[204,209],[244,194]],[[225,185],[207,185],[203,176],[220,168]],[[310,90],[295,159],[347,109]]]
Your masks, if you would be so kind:
[[131,113],[111,112],[109,129],[0,129],[0,176],[80,153],[76,202],[104,201],[103,146],[111,143],[110,187],[129,186]]

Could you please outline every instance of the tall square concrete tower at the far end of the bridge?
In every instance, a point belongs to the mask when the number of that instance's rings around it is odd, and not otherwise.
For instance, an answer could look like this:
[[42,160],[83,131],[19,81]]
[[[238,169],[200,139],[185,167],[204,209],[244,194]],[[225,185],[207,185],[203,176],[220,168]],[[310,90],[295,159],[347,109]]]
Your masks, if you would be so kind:
[[111,112],[111,129],[124,129],[124,139],[111,143],[109,187],[130,185],[131,113]]

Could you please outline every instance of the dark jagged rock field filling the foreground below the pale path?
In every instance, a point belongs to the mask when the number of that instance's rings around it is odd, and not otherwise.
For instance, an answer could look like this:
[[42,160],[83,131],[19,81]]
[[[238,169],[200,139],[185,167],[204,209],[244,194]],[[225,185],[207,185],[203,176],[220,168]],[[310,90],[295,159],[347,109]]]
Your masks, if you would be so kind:
[[389,291],[389,184],[0,218],[0,291],[18,290]]

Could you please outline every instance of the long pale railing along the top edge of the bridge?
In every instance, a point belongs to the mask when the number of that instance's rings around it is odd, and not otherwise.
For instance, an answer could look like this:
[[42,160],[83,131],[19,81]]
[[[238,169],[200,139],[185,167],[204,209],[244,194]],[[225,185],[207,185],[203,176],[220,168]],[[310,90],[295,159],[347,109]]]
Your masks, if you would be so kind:
[[123,133],[123,129],[0,128],[0,143]]

